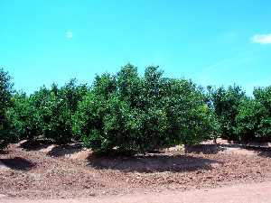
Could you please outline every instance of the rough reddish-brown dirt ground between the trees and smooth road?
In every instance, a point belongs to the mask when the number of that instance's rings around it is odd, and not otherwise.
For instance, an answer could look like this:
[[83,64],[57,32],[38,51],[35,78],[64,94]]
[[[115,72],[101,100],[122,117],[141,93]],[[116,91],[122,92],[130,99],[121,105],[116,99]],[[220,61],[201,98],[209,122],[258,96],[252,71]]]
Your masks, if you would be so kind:
[[204,144],[98,158],[79,144],[13,144],[0,153],[0,199],[110,198],[271,181],[269,149]]

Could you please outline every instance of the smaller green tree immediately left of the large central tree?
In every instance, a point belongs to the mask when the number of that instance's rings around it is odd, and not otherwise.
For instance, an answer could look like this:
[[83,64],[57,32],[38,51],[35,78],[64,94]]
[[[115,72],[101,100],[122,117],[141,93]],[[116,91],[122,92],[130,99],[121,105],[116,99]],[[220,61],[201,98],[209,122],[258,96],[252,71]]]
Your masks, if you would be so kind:
[[71,79],[64,87],[53,84],[51,89],[42,90],[45,94],[42,104],[37,106],[42,124],[42,135],[56,143],[70,143],[76,136],[72,133],[72,116],[79,101],[87,94],[86,85],[77,85]]

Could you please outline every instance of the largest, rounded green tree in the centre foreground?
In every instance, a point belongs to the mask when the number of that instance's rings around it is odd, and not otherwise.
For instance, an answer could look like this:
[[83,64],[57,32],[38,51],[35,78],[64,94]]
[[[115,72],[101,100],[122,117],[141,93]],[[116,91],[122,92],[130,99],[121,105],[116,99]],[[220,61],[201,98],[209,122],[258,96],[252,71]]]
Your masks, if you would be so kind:
[[128,64],[98,76],[79,103],[74,131],[98,152],[148,152],[210,138],[210,109],[192,81],[164,78],[158,67],[139,77]]

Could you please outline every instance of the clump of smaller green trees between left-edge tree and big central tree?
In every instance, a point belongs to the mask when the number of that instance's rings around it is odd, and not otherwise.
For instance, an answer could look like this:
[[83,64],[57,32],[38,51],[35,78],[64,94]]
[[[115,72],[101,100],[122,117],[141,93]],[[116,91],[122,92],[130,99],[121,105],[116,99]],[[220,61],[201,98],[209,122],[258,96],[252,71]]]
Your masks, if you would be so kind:
[[72,133],[72,116],[87,92],[86,85],[78,86],[71,79],[64,87],[52,84],[51,88],[42,87],[30,97],[15,94],[14,106],[8,110],[10,134],[21,139],[42,136],[56,143],[70,143],[76,139]]

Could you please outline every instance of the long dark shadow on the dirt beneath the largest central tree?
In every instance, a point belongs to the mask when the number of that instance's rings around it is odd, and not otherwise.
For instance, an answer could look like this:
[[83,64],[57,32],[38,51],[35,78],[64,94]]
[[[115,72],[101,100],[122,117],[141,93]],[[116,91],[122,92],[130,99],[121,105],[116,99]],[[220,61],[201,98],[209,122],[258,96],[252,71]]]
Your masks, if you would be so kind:
[[154,154],[134,157],[98,157],[89,156],[89,166],[100,170],[163,172],[211,170],[220,161],[193,157],[189,155]]

